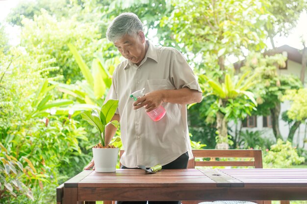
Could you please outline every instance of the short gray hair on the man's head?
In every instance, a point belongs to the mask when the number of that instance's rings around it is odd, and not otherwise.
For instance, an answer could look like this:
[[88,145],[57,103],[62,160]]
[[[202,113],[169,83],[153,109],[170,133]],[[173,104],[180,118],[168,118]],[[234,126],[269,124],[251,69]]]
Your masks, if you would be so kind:
[[143,31],[141,20],[134,13],[122,13],[117,16],[109,25],[106,31],[106,38],[115,42],[124,35],[133,35]]

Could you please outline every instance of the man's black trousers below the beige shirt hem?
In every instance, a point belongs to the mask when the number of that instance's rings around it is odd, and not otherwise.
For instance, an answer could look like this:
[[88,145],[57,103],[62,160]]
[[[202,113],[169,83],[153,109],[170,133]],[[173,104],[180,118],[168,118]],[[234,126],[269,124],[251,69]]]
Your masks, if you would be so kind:
[[[186,169],[188,166],[189,155],[188,152],[181,154],[177,159],[162,166],[162,169]],[[121,169],[129,169],[121,166]],[[159,174],[159,173],[157,173]],[[116,204],[146,204],[147,201],[117,201]],[[149,201],[148,204],[181,204],[181,201]]]

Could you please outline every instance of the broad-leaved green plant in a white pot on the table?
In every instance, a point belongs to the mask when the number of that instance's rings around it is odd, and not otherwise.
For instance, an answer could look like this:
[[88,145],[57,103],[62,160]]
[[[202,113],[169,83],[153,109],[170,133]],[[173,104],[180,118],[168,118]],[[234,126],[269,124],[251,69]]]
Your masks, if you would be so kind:
[[115,127],[118,126],[117,120],[110,121],[118,107],[118,100],[108,100],[101,110],[93,109],[92,111],[82,112],[81,116],[88,123],[96,127],[100,135],[100,143],[94,146],[93,156],[96,172],[115,172],[118,158],[119,148],[112,145],[114,142],[119,142],[119,137],[115,138],[109,145],[105,145],[104,130],[109,123]]

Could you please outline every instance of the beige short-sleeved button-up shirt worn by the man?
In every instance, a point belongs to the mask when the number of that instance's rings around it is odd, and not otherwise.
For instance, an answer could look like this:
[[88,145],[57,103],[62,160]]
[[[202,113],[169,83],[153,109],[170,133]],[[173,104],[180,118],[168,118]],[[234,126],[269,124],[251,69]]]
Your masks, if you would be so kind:
[[128,168],[138,165],[166,165],[188,152],[193,158],[187,126],[186,105],[163,103],[165,116],[154,122],[143,108],[133,110],[129,95],[145,87],[144,93],[159,89],[188,87],[202,91],[181,53],[170,47],[154,47],[149,42],[139,66],[128,59],[113,73],[108,99],[118,99],[121,138],[125,153],[121,163]]

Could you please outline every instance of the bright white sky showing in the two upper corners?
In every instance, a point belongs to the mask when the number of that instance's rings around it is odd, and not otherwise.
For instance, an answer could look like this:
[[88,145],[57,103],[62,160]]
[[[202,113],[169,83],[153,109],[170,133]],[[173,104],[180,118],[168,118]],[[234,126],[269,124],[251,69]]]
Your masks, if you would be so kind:
[[[10,9],[18,4],[21,0],[0,0],[0,22],[3,22],[7,14],[10,12]],[[295,29],[291,31],[288,37],[276,37],[275,38],[275,46],[279,47],[284,44],[287,44],[291,47],[302,49],[302,37],[307,42],[307,12],[301,14],[300,19],[298,21],[298,25]],[[8,27],[7,32],[11,39],[11,44],[18,44],[18,28]],[[270,46],[268,41],[267,43]],[[271,47],[271,46],[270,46]]]

